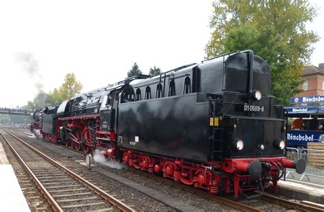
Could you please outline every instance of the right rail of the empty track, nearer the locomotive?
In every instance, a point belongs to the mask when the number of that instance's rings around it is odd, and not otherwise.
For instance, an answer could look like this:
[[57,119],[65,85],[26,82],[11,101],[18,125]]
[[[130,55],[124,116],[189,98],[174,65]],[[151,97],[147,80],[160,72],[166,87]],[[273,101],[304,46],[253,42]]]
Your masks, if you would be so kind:
[[[5,131],[3,129],[3,131]],[[72,178],[75,178],[77,181],[79,181],[80,183],[82,183],[83,185],[85,185],[86,187],[89,187],[90,189],[92,189],[92,191],[96,192],[96,194],[98,194],[99,196],[101,196],[102,198],[104,198],[105,200],[108,200],[111,204],[115,205],[116,207],[118,207],[118,209],[122,210],[122,211],[135,211],[134,209],[132,209],[131,207],[129,207],[128,205],[124,204],[123,202],[121,202],[120,200],[114,198],[113,196],[107,194],[105,191],[103,191],[102,189],[96,187],[95,185],[93,185],[92,183],[90,183],[89,181],[85,180],[84,178],[82,178],[81,176],[75,174],[75,172],[72,172],[71,170],[68,170],[67,168],[65,168],[63,165],[57,163],[56,161],[54,161],[53,159],[51,159],[50,157],[44,155],[43,153],[41,153],[39,150],[37,150],[36,148],[33,148],[33,146],[30,146],[29,144],[27,144],[26,142],[24,142],[23,140],[21,140],[20,138],[16,137],[15,135],[13,135],[12,133],[9,133],[8,131],[5,131],[6,133],[12,135],[12,137],[16,138],[16,140],[18,140],[19,142],[21,142],[22,144],[24,144],[25,146],[27,146],[28,148],[30,148],[31,150],[33,150],[35,153],[37,153],[38,155],[40,155],[41,157],[43,157],[44,159],[46,159],[46,161],[49,161],[50,163],[52,163],[53,165],[57,166],[57,168],[60,168],[61,170],[63,170],[64,172],[66,172],[66,174],[72,176]]]

